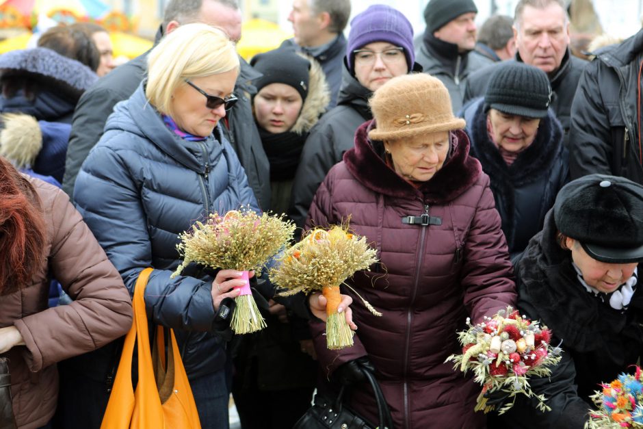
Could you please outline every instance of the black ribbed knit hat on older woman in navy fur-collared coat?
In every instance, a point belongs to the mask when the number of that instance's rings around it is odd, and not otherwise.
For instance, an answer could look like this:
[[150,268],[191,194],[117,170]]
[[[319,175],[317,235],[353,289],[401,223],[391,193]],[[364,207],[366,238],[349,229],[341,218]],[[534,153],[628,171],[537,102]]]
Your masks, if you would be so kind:
[[551,102],[549,77],[534,66],[523,62],[499,64],[491,75],[484,94],[484,111],[544,118]]

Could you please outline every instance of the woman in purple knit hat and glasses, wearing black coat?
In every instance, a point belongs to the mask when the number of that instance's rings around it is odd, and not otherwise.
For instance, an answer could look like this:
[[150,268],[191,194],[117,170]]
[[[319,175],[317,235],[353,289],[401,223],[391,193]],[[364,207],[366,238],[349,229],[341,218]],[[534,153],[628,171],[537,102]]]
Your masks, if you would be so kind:
[[[367,31],[368,30],[368,31]],[[413,29],[399,11],[386,5],[372,5],[356,15],[351,22],[346,57],[343,63],[343,82],[339,104],[321,117],[306,139],[297,168],[290,218],[303,227],[319,184],[328,170],[341,161],[344,152],[353,147],[356,129],[373,119],[368,99],[392,77],[412,71],[421,71],[415,63],[412,49]],[[385,52],[375,50],[402,48],[399,61],[384,60]],[[367,55],[364,62],[354,51]],[[369,56],[373,54],[372,61]]]

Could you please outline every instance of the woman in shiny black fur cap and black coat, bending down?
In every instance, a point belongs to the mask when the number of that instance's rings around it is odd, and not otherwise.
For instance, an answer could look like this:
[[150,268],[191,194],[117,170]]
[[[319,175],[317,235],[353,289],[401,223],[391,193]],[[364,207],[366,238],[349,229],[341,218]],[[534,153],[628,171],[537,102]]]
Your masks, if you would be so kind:
[[591,174],[560,190],[516,264],[519,309],[551,329],[551,343],[562,341],[551,376],[529,380],[551,411],[516,396],[490,428],[583,428],[599,383],[631,370],[643,354],[640,261],[642,185]]

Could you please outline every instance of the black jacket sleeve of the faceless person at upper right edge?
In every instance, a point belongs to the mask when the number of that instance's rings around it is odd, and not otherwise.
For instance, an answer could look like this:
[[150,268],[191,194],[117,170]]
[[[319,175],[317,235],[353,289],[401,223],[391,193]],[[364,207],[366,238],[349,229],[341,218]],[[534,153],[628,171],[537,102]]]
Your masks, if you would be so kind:
[[617,174],[611,168],[609,106],[603,104],[599,86],[601,64],[594,60],[583,70],[572,103],[569,133],[572,180],[592,173]]

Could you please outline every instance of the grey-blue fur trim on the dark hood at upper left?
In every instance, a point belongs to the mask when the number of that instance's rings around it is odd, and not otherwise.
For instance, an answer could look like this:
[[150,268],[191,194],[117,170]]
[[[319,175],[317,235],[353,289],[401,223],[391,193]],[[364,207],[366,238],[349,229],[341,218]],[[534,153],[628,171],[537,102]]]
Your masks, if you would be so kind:
[[53,92],[64,92],[78,101],[98,75],[77,60],[64,57],[47,48],[10,51],[0,55],[0,78],[32,77]]

